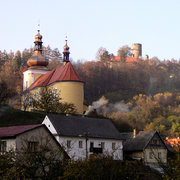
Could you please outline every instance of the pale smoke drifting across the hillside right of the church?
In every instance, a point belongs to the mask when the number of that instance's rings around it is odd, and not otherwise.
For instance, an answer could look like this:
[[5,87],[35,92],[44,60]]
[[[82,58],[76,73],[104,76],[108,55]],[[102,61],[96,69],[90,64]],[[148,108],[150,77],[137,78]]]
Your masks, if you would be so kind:
[[113,104],[109,103],[109,100],[105,98],[100,98],[98,101],[94,101],[92,105],[88,107],[85,115],[88,115],[95,110],[98,114],[109,115],[116,112],[127,113],[129,112],[129,107],[123,101]]

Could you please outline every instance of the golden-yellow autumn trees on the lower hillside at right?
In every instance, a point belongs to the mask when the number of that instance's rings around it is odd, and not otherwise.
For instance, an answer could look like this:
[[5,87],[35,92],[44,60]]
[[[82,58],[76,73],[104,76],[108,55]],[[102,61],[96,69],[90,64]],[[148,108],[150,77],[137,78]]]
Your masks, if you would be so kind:
[[128,103],[130,111],[124,114],[137,130],[159,130],[164,136],[180,135],[179,93],[138,95]]

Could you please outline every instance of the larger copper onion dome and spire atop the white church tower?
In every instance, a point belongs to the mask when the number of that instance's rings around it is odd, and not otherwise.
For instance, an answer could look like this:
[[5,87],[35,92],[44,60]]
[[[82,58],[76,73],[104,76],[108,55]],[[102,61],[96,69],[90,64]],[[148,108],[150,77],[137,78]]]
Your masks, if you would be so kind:
[[40,34],[40,30],[35,36],[34,41],[34,53],[31,58],[27,61],[27,65],[30,67],[33,66],[47,66],[48,61],[45,60],[45,57],[42,55],[42,35]]

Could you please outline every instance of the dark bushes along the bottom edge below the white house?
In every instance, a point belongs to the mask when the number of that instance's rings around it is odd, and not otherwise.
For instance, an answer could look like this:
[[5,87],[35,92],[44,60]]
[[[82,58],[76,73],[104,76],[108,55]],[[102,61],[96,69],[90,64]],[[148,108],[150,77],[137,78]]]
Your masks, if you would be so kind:
[[110,157],[92,157],[86,161],[70,162],[62,179],[161,179],[161,176],[137,161],[114,161]]

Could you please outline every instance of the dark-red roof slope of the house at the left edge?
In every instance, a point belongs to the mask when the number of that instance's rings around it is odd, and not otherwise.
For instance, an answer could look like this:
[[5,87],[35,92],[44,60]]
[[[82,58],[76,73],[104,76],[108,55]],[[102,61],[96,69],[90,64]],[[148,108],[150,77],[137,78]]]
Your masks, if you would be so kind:
[[0,127],[0,138],[15,137],[18,134],[24,133],[26,131],[29,131],[31,129],[34,129],[40,126],[42,126],[42,124]]

